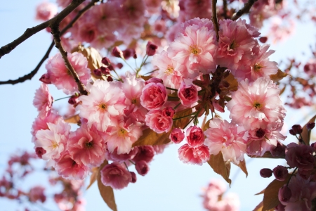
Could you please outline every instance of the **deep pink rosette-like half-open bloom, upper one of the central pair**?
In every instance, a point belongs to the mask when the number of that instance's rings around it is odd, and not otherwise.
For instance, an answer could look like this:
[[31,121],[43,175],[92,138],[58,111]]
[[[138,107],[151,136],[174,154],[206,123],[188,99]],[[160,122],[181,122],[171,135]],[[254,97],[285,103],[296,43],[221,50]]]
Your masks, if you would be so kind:
[[143,88],[140,96],[140,104],[148,110],[162,108],[166,103],[168,95],[166,87],[161,83],[149,83]]

